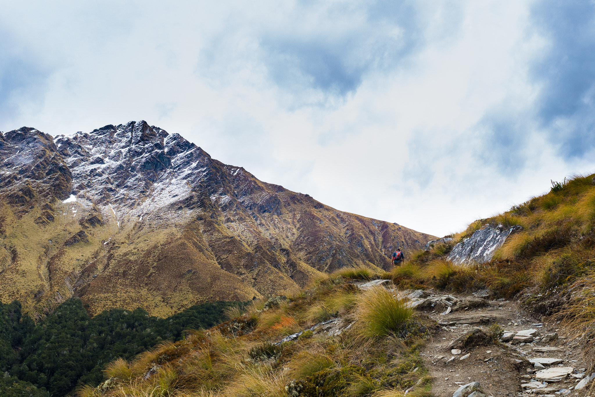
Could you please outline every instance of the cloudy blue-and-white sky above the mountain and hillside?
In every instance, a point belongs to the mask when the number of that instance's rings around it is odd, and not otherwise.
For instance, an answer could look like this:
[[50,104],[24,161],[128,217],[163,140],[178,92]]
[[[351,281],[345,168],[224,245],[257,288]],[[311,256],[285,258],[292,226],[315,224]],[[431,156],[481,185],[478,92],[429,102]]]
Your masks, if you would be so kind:
[[595,171],[593,1],[0,1],[0,130],[146,120],[443,236]]

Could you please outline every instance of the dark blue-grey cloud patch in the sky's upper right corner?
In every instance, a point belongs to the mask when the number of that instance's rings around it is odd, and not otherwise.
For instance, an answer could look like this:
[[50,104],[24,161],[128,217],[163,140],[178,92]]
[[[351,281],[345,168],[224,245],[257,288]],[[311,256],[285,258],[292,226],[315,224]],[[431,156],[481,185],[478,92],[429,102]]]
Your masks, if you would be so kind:
[[550,44],[531,68],[538,121],[565,158],[582,157],[595,148],[595,2],[538,2],[532,18]]

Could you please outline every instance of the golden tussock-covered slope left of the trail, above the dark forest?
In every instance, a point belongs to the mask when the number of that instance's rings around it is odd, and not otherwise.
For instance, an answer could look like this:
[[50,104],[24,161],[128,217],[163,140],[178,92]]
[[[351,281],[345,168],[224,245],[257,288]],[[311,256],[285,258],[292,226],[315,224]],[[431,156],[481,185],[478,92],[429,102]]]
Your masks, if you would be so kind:
[[[427,335],[422,320],[383,287],[362,292],[347,280],[321,276],[295,296],[255,301],[206,332],[112,362],[106,382],[82,386],[79,395],[402,396],[414,385],[412,396],[429,395],[418,354]],[[343,326],[353,323],[339,336],[307,331],[274,344],[336,316]]]

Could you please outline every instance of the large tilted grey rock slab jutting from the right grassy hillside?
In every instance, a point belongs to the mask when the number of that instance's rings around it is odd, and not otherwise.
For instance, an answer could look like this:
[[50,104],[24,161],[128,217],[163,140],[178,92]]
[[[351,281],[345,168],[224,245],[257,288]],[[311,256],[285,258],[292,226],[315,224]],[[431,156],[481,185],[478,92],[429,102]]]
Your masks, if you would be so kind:
[[521,229],[520,226],[513,226],[510,229],[486,227],[486,229],[477,230],[471,237],[455,245],[447,259],[459,264],[489,262],[494,256],[494,251],[506,241],[506,237],[519,229]]

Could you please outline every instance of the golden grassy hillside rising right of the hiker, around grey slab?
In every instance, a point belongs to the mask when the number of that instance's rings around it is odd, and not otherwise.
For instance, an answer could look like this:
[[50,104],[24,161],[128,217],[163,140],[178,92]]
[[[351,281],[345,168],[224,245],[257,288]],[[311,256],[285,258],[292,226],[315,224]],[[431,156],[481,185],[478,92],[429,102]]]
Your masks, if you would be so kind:
[[[401,287],[454,292],[489,289],[515,297],[544,315],[572,321],[577,333],[595,330],[594,175],[552,182],[547,194],[469,224],[449,243],[417,251],[390,273]],[[486,264],[446,261],[453,246],[483,227],[522,229],[508,237]]]

